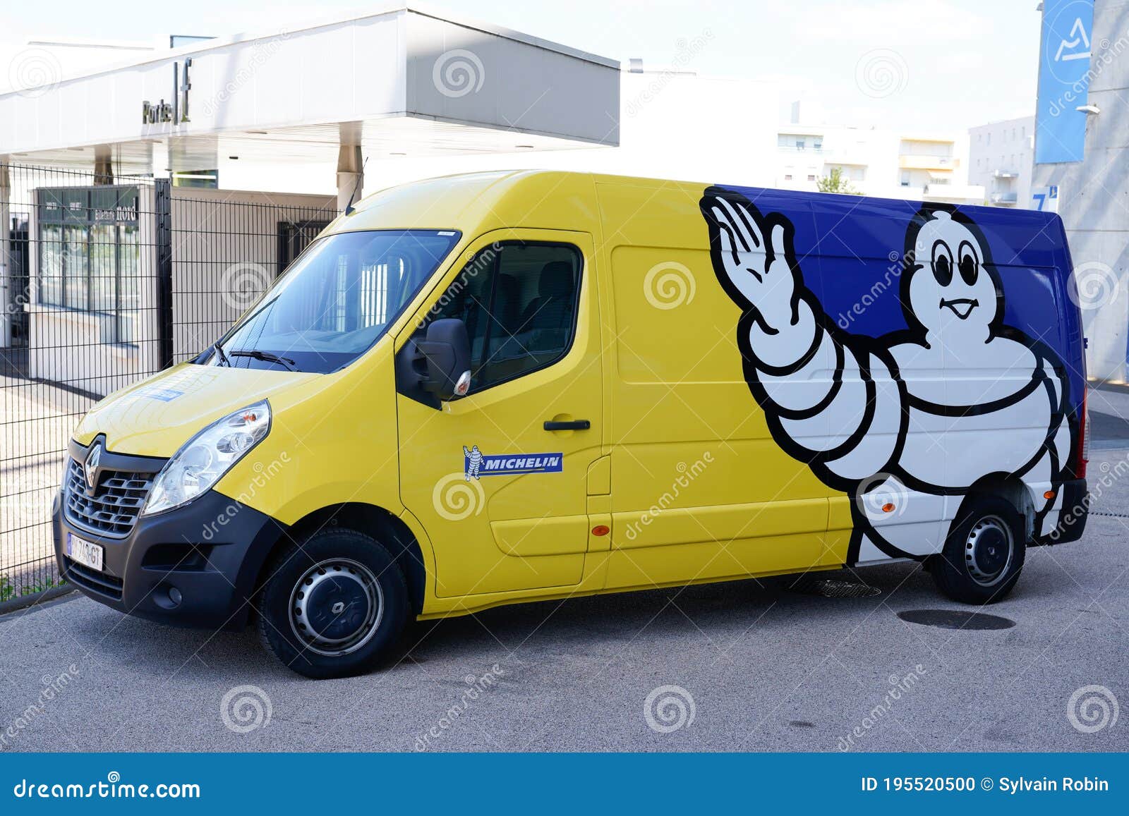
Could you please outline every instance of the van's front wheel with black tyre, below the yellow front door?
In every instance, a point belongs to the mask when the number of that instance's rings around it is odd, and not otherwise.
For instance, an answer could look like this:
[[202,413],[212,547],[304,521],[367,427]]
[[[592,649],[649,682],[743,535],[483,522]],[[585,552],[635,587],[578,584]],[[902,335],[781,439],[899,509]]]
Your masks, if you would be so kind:
[[306,677],[373,669],[395,646],[410,613],[400,567],[374,538],[321,530],[268,565],[259,633],[288,668]]

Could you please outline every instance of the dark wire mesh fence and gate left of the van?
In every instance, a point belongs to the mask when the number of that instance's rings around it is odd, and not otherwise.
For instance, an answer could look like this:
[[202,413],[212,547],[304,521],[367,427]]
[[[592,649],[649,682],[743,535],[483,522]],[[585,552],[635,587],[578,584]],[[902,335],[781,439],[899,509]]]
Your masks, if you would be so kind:
[[335,207],[0,164],[0,605],[58,584],[51,506],[82,414],[212,343]]

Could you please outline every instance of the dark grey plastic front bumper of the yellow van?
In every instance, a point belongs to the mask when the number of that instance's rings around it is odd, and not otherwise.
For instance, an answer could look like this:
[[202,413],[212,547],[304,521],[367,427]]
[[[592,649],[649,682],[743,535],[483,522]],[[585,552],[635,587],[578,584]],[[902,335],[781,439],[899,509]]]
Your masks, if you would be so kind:
[[[73,442],[71,448],[81,462],[86,448]],[[145,457],[137,458],[146,464]],[[52,515],[55,561],[59,573],[84,595],[119,612],[177,626],[246,625],[259,571],[285,525],[210,490],[183,507],[139,516],[125,536],[108,536],[65,512],[64,490],[55,495]],[[104,549],[102,572],[67,556],[68,533]]]

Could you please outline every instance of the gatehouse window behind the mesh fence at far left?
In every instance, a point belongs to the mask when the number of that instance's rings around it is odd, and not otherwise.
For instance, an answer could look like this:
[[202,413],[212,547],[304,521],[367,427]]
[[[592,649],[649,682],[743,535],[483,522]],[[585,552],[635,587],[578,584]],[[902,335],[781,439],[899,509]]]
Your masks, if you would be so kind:
[[98,342],[134,343],[138,188],[41,188],[38,201],[38,302],[99,315]]

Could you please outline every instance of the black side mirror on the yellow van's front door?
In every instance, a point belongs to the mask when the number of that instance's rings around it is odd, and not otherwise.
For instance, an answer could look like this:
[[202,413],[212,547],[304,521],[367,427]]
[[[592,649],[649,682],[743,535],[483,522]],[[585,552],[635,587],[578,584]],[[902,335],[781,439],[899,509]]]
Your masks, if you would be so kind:
[[471,341],[455,317],[435,321],[422,340],[410,340],[396,356],[396,389],[439,407],[471,388]]

